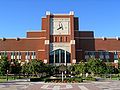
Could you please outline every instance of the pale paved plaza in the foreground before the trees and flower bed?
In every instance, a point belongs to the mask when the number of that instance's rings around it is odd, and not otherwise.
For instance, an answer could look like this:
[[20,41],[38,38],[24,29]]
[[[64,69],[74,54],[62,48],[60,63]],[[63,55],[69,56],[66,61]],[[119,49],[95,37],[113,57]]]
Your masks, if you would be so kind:
[[86,83],[11,81],[0,83],[0,90],[120,90],[120,81],[107,80]]

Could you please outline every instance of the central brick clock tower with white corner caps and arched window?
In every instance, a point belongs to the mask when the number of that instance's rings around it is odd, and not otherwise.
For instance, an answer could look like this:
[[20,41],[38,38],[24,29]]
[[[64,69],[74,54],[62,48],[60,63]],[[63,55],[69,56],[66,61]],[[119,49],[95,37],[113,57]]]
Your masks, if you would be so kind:
[[44,62],[56,65],[76,63],[74,12],[51,14],[47,11],[46,18],[46,59]]

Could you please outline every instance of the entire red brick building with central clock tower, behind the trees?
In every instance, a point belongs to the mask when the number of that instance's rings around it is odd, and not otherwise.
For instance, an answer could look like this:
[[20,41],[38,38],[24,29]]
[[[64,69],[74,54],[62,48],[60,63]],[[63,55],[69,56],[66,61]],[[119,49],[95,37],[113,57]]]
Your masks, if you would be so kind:
[[93,31],[80,31],[79,19],[74,12],[51,14],[42,18],[41,31],[27,32],[26,38],[1,38],[0,59],[21,62],[31,59],[44,63],[70,64],[89,57],[100,58],[117,64],[120,57],[120,39],[94,38]]

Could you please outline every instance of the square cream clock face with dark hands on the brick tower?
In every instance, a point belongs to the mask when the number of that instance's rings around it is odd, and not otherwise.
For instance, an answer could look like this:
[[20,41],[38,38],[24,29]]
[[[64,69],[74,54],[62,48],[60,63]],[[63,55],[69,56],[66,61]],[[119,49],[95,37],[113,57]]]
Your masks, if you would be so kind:
[[69,35],[69,18],[51,18],[51,35]]

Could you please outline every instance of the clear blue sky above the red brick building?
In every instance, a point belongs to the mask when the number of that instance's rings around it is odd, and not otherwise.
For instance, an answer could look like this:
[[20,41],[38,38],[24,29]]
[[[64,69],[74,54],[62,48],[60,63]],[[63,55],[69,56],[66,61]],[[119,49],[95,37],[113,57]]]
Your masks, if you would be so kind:
[[80,30],[94,31],[95,37],[120,36],[120,0],[0,0],[0,38],[40,30],[46,11],[74,11]]

